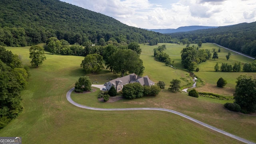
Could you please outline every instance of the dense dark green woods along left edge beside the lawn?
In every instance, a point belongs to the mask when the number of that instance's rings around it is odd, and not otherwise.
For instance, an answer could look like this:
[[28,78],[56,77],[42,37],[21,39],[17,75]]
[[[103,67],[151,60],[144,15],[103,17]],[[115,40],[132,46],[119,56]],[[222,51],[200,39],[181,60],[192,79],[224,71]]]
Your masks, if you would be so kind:
[[22,112],[20,92],[28,77],[28,67],[22,64],[20,56],[0,46],[0,128]]

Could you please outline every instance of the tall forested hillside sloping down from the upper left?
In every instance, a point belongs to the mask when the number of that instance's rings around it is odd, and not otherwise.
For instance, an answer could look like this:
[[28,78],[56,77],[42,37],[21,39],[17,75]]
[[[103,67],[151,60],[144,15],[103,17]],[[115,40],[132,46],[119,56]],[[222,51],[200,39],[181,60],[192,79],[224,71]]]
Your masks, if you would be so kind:
[[117,42],[170,42],[170,36],[122,24],[118,20],[59,0],[1,0],[0,45],[26,46],[56,36],[70,44],[100,38]]

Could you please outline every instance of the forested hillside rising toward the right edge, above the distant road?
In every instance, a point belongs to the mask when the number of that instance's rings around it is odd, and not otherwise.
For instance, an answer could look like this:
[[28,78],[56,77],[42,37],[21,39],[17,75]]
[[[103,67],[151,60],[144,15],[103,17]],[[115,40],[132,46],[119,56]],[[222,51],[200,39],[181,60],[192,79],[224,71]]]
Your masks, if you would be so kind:
[[214,42],[232,50],[256,56],[256,22],[191,32],[177,32],[170,36],[191,43]]

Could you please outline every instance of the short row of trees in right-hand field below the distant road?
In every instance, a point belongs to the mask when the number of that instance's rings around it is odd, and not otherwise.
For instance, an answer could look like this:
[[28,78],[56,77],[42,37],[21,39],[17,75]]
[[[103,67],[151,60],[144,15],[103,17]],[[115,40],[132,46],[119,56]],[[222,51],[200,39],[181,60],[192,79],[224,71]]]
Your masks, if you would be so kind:
[[242,69],[241,62],[237,64],[237,62],[232,66],[232,64],[228,63],[222,63],[221,66],[219,66],[218,62],[214,66],[214,70],[217,72],[221,70],[222,72],[240,72]]

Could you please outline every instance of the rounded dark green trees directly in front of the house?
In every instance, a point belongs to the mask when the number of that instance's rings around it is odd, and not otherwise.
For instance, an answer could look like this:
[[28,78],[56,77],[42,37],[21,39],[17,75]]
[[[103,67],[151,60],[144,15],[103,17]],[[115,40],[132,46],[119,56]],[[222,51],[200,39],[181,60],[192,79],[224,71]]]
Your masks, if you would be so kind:
[[144,95],[156,96],[157,94],[159,94],[160,91],[161,91],[161,88],[159,86],[156,86],[156,85],[142,86],[138,82],[126,84],[122,89],[123,96],[130,99],[140,98]]

